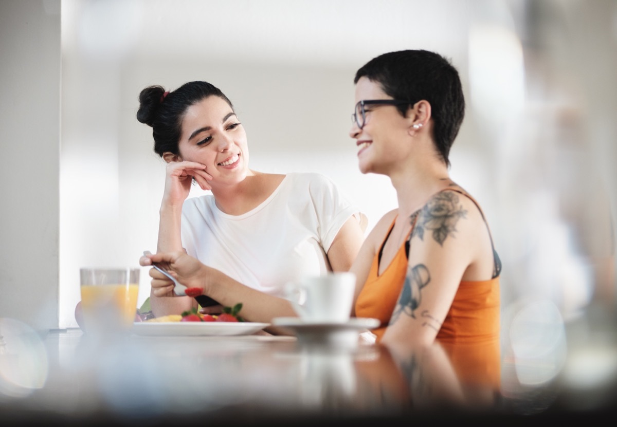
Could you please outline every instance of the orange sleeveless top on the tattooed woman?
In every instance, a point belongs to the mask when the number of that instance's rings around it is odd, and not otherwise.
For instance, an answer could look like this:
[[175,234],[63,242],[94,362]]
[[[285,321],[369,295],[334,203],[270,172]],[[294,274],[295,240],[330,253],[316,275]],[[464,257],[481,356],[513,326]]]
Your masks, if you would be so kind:
[[[452,189],[449,190],[452,191]],[[458,191],[458,193],[470,197],[462,191]],[[470,197],[470,199],[474,201],[473,198]],[[476,202],[474,201],[474,203]],[[478,204],[476,203],[476,205]],[[480,212],[482,211],[480,210]],[[393,227],[394,221],[381,247],[386,243],[386,239]],[[411,233],[410,231],[409,236],[411,236]],[[407,273],[407,251],[405,251],[405,244],[401,245],[394,259],[392,259],[392,262],[386,267],[381,276],[378,275],[381,251],[375,254],[370,272],[355,304],[355,315],[357,317],[373,317],[381,321],[381,325],[373,330],[378,342],[381,341],[386,331],[405,282],[405,274]],[[475,365],[477,369],[485,371],[484,378],[486,378],[486,375],[490,375],[499,384],[500,262],[496,252],[494,253],[495,277],[484,281],[461,281],[444,323],[437,333],[437,340],[446,344],[445,349],[449,353],[450,359],[457,355],[464,359],[458,361],[451,360],[459,375],[462,372],[459,372],[457,367],[463,368],[464,366],[463,373],[465,373],[465,376],[473,378],[472,375],[475,370],[471,368],[471,365]],[[463,357],[463,352],[457,352],[457,347],[450,344],[474,344],[474,346],[465,346],[465,357]],[[473,351],[471,347],[481,348],[481,350]],[[474,363],[473,360],[477,360],[478,363]]]

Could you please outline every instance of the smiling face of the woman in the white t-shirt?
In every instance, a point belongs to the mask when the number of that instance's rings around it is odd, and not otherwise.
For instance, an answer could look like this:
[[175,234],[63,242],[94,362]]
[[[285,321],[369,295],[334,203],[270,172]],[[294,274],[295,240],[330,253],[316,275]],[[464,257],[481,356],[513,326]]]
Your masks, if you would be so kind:
[[178,149],[182,160],[206,166],[213,188],[238,183],[250,173],[244,127],[218,96],[202,99],[186,110]]

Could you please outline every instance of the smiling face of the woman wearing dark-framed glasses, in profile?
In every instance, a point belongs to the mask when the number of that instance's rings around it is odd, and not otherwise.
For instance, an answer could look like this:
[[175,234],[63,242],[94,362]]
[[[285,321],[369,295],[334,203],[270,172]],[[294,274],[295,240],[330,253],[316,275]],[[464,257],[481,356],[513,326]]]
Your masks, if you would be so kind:
[[[355,86],[355,102],[368,99],[392,99],[379,83],[360,78]],[[408,152],[408,118],[402,117],[395,106],[366,105],[366,120],[362,129],[354,123],[349,136],[358,146],[358,167],[362,173],[388,174],[391,165]],[[403,151],[401,151],[403,150]]]

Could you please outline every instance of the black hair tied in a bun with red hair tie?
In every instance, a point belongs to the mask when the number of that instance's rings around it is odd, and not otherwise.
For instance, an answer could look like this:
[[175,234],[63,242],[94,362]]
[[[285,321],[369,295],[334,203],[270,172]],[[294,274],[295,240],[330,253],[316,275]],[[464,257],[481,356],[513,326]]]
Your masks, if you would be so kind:
[[233,110],[233,104],[216,86],[207,81],[189,81],[173,92],[165,93],[162,86],[148,86],[139,93],[137,120],[152,126],[154,151],[161,157],[165,152],[180,154],[178,143],[186,110],[209,96],[224,99]]

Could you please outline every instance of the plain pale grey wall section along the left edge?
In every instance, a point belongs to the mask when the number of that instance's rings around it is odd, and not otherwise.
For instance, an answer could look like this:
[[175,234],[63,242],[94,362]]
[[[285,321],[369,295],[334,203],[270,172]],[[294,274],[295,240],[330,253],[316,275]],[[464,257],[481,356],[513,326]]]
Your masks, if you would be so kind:
[[0,58],[0,317],[47,330],[59,302],[60,0],[0,1]]

